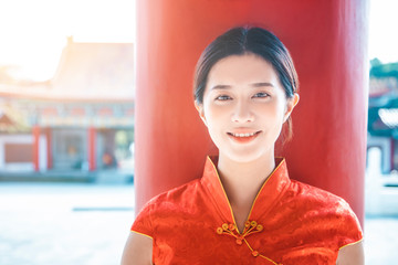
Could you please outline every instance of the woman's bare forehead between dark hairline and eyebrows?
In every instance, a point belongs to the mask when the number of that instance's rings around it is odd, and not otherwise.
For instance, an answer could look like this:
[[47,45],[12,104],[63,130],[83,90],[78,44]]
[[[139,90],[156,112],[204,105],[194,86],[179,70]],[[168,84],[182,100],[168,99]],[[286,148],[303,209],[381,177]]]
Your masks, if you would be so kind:
[[210,70],[207,86],[243,85],[259,82],[277,85],[279,78],[271,63],[259,55],[249,53],[230,55],[218,61]]

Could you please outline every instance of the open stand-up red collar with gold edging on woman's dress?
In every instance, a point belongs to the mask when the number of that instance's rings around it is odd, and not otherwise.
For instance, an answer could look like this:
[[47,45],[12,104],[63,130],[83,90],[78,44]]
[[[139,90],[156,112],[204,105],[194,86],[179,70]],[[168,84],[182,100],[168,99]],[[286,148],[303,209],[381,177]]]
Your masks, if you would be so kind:
[[[201,182],[208,189],[209,194],[212,197],[226,221],[235,223],[232,208],[217,171],[217,163],[218,157],[207,157]],[[276,158],[275,165],[275,169],[269,178],[266,178],[256,194],[248,220],[259,220],[265,214],[290,184],[285,159]]]

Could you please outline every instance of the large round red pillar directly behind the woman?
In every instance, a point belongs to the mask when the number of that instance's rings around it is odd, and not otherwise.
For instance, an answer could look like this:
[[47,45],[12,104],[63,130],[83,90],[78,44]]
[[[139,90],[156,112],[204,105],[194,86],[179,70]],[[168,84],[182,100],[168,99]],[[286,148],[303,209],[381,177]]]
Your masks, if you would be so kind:
[[[264,26],[291,51],[301,81],[291,178],[345,198],[364,216],[367,1],[138,0],[137,210],[201,176],[214,152],[192,99],[201,51],[242,24]],[[184,14],[184,15],[181,15]]]

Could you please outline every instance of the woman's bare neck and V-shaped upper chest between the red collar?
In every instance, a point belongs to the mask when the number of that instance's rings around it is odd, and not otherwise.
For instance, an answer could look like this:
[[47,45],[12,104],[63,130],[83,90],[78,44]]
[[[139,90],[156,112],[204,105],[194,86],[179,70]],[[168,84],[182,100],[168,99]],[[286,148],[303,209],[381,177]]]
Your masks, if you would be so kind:
[[250,162],[237,162],[220,153],[219,176],[240,231],[248,219],[256,194],[274,168],[273,153]]

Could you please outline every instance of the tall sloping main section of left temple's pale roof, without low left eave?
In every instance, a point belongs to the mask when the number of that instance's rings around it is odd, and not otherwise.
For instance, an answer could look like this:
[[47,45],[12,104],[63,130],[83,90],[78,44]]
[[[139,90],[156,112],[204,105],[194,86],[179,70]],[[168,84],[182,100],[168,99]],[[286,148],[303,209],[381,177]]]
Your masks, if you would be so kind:
[[134,91],[133,43],[69,41],[49,93],[66,97],[133,99]]

